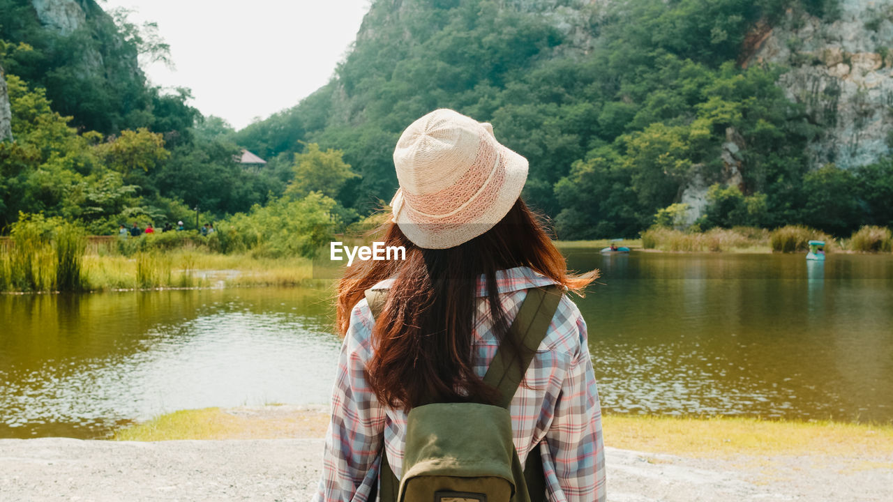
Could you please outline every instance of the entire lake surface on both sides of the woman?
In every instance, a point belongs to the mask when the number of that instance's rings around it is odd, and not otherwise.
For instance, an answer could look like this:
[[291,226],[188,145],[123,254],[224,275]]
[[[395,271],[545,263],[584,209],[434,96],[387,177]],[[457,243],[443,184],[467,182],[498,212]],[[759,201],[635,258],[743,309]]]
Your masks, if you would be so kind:
[[[577,299],[613,413],[893,420],[893,256],[599,255]],[[326,403],[328,289],[0,295],[0,438]]]

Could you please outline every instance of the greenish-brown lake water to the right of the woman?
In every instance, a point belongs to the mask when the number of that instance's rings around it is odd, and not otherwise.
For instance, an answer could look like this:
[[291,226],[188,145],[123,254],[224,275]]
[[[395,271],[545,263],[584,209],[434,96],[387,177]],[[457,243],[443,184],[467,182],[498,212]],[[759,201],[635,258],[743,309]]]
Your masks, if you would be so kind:
[[893,419],[893,257],[630,255],[578,303],[609,412]]

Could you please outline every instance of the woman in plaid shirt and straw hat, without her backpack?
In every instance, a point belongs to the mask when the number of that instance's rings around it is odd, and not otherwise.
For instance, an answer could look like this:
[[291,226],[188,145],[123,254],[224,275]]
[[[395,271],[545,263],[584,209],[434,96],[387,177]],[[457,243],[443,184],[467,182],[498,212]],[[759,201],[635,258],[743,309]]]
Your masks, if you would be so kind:
[[[404,131],[394,163],[400,188],[384,241],[405,247],[405,260],[354,264],[339,285],[345,339],[317,502],[374,497],[382,449],[400,478],[409,410],[432,401],[492,403],[494,389],[482,377],[497,347],[511,343],[527,290],[579,292],[597,276],[568,274],[520,198],[527,160],[500,145],[489,124],[451,110],[429,113]],[[366,289],[387,289],[377,316]],[[509,411],[522,464],[542,458],[550,502],[605,500],[586,323],[568,297]]]

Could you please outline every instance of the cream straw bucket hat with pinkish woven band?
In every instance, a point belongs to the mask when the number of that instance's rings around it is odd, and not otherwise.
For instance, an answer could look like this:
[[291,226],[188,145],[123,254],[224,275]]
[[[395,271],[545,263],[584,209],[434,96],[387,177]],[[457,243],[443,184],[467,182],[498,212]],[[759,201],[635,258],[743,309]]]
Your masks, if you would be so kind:
[[414,121],[394,149],[392,219],[418,247],[446,249],[492,229],[521,196],[527,159],[493,126],[441,109]]

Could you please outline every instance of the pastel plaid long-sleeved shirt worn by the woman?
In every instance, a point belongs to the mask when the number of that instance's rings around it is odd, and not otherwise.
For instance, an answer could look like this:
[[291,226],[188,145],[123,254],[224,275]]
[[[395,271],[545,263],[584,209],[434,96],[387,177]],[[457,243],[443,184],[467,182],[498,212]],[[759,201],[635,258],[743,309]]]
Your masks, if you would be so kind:
[[[509,319],[521,308],[527,289],[549,284],[554,281],[527,267],[497,272]],[[389,286],[384,280],[374,289]],[[481,276],[478,297],[486,294]],[[498,344],[486,302],[478,302],[477,315],[475,369],[483,377]],[[403,473],[406,414],[380,405],[363,376],[372,356],[373,322],[363,299],[351,313],[341,347],[322,479],[314,502],[367,502],[378,481],[382,434],[391,469],[397,478]],[[550,502],[604,501],[605,449],[586,322],[568,297],[562,297],[525,377],[531,389],[519,387],[509,408],[521,463],[530,454],[542,457]]]

